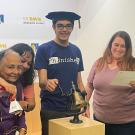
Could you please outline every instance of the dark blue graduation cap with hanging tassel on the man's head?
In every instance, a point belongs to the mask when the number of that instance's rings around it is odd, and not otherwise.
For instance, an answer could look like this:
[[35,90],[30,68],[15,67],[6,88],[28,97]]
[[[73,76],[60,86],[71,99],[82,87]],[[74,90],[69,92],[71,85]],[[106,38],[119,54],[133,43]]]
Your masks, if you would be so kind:
[[78,20],[79,22],[79,28],[80,28],[80,18],[78,14],[74,12],[67,12],[67,11],[56,11],[56,12],[50,12],[48,15],[46,15],[46,18],[52,20],[53,22],[56,22],[58,20],[69,20],[74,23],[75,20]]

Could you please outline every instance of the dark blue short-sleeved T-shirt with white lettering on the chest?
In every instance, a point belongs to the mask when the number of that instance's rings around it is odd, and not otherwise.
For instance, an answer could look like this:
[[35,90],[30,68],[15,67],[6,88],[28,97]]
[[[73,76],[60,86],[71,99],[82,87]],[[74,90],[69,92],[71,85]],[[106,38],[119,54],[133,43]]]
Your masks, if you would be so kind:
[[[47,69],[48,79],[58,79],[64,93],[72,92],[71,82],[77,85],[77,74],[83,71],[80,49],[69,44],[62,47],[50,41],[38,47],[35,58],[35,69]],[[41,90],[41,109],[66,111],[71,97],[61,96],[59,87],[54,92]]]

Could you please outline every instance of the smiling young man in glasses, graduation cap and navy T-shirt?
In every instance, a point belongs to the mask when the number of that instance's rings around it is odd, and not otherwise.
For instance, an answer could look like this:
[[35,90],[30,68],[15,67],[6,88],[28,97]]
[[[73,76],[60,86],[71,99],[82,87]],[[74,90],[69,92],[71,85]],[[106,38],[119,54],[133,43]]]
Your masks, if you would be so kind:
[[55,38],[39,46],[35,59],[41,88],[42,135],[48,135],[48,120],[66,117],[72,104],[72,83],[82,91],[81,51],[69,42],[74,21],[81,17],[73,12],[51,12],[46,16],[53,22]]

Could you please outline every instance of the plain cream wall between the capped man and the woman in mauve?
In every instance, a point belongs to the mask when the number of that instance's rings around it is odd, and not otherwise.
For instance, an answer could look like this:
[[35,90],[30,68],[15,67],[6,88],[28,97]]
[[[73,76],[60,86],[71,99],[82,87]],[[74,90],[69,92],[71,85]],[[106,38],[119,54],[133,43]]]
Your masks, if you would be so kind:
[[78,32],[86,82],[93,62],[102,55],[111,36],[119,30],[127,31],[133,42],[135,54],[135,0],[81,0],[82,29]]

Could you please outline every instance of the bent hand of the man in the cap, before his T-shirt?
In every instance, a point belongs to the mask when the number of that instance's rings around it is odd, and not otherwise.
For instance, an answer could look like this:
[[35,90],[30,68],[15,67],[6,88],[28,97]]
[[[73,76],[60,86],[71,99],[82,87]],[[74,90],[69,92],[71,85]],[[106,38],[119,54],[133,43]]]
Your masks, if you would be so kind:
[[58,86],[58,83],[59,83],[58,79],[48,79],[46,83],[46,89],[50,92],[53,92]]

